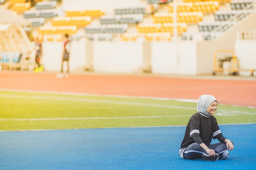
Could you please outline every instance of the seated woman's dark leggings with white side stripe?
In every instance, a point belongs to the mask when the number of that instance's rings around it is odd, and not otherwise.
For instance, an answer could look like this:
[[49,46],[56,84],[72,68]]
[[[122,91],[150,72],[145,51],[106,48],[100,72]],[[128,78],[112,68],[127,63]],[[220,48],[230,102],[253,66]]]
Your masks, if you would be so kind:
[[[232,142],[232,144],[234,143]],[[208,148],[215,150],[215,152],[218,154],[224,153],[225,151],[229,150],[227,149],[226,143],[223,143],[223,142],[219,142],[217,144],[211,144],[208,146]],[[202,158],[202,154],[204,153],[206,153],[206,151],[198,143],[193,143],[184,150],[183,158],[198,159],[198,158]]]

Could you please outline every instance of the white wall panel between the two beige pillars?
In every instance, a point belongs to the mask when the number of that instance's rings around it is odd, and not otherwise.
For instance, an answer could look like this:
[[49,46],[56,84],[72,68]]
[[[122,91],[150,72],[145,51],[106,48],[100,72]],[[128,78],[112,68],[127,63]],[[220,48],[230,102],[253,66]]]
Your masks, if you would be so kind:
[[143,43],[97,41],[93,49],[95,72],[133,73],[143,67]]

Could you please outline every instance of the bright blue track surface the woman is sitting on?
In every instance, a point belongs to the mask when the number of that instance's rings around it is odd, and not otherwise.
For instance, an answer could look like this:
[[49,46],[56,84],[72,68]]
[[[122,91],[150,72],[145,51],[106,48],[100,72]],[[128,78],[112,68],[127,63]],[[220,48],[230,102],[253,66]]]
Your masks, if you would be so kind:
[[220,125],[235,148],[227,160],[215,162],[180,158],[185,126],[0,132],[0,169],[252,170],[255,126]]

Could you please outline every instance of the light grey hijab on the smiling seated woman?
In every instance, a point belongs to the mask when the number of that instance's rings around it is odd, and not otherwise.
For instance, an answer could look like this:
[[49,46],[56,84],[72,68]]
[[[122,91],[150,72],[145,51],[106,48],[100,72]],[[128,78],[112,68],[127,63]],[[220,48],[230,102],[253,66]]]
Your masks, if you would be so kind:
[[[216,100],[215,97],[204,94],[200,96],[196,109],[198,110],[198,112],[203,113],[206,116],[210,116],[211,114],[207,112],[207,107],[211,105],[211,103],[215,100]],[[216,102],[218,101],[216,100]]]

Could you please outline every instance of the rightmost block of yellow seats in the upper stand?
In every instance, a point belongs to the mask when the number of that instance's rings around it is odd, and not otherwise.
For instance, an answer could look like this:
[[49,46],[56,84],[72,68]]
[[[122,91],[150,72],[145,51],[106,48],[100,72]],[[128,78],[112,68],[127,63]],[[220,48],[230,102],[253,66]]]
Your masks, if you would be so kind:
[[218,1],[195,2],[192,10],[194,12],[213,13],[218,10],[219,4]]

